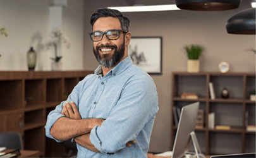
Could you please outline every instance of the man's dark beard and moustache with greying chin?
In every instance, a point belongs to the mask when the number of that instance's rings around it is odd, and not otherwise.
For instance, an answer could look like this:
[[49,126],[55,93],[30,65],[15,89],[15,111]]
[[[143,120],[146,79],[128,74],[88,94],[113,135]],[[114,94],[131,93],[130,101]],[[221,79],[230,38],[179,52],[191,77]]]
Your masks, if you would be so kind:
[[[101,48],[111,48],[114,49],[114,54],[111,58],[111,54],[99,54],[99,49]],[[97,61],[101,64],[101,66],[103,66],[104,68],[113,68],[115,64],[117,64],[125,55],[125,40],[123,41],[123,44],[121,45],[121,47],[117,50],[117,46],[116,45],[109,45],[107,44],[106,46],[97,46],[96,50],[94,49],[94,47],[92,48],[94,51],[94,56],[97,59]],[[103,59],[102,59],[103,58]]]

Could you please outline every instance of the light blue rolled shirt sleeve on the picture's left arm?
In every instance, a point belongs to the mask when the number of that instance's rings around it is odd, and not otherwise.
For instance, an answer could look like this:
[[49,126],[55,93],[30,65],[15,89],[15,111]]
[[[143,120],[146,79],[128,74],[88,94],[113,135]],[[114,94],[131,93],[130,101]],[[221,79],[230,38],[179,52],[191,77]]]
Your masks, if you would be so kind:
[[[61,114],[61,111],[63,111],[63,105],[66,104],[66,102],[75,102],[76,107],[79,109],[79,92],[80,92],[80,84],[81,81],[75,86],[75,88],[72,90],[71,94],[68,96],[68,99],[66,101],[61,102],[61,104],[59,104],[58,106],[56,106],[56,108],[51,111],[48,116],[47,116],[47,122],[46,122],[46,126],[44,126],[44,128],[46,128],[46,136],[49,138],[52,138],[54,140],[56,140],[56,142],[63,142],[61,140],[57,140],[56,138],[52,137],[50,131],[52,126],[54,125],[54,123],[61,117],[66,117],[63,114]],[[73,138],[72,138],[72,142],[73,142]]]

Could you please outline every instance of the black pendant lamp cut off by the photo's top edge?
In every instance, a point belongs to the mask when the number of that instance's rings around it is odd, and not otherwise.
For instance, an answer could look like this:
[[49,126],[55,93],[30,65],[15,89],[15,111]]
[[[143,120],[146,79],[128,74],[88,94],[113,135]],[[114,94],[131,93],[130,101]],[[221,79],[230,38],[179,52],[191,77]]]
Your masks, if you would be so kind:
[[226,11],[239,7],[241,0],[175,0],[180,9],[193,11]]

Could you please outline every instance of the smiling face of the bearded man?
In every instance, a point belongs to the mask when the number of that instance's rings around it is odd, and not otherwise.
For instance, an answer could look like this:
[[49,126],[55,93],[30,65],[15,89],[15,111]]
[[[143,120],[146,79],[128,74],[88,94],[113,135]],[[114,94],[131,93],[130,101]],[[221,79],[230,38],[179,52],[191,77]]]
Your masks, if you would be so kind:
[[[94,23],[93,32],[106,32],[107,30],[122,30],[118,18],[99,18]],[[102,40],[94,42],[94,55],[104,68],[113,68],[125,55],[125,39],[120,32],[119,39],[109,40],[103,35]]]

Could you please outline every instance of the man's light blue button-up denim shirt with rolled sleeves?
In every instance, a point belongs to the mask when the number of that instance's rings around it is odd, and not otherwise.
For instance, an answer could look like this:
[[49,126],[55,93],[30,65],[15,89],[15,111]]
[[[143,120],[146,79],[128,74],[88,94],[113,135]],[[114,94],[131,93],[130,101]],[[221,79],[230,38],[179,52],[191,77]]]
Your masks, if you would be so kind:
[[[80,81],[66,101],[75,102],[82,119],[106,119],[90,131],[90,141],[101,153],[78,143],[78,157],[147,157],[155,114],[159,110],[152,78],[133,64],[130,56],[102,77],[99,66],[94,74]],[[61,102],[47,117],[46,136],[52,125],[64,115]],[[131,140],[131,147],[126,143]],[[61,142],[60,140],[56,140]]]

